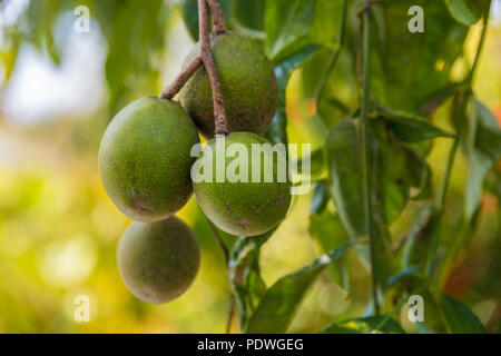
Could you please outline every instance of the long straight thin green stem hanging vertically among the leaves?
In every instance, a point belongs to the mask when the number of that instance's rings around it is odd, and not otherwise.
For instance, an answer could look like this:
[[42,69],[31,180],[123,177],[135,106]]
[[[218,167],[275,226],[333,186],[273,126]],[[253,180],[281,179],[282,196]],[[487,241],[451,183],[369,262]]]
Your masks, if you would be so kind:
[[365,229],[371,241],[371,267],[372,267],[372,298],[374,303],[374,314],[380,314],[380,303],[377,298],[377,273],[375,263],[375,238],[372,217],[372,187],[370,179],[370,149],[369,149],[369,96],[370,96],[370,62],[371,50],[371,3],[366,2],[363,12],[363,73],[362,73],[362,108],[361,108],[361,121],[360,121],[360,136],[361,136],[361,151],[362,151],[362,176],[364,185],[364,212],[365,212]]

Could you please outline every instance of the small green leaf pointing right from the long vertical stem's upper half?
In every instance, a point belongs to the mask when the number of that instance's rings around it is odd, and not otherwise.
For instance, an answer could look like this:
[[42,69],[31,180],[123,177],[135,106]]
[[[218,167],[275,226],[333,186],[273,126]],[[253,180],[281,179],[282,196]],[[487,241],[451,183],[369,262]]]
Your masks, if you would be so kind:
[[453,134],[438,128],[416,115],[390,108],[379,108],[375,113],[372,113],[374,115],[386,118],[395,137],[404,142],[419,142],[435,137],[454,137]]

